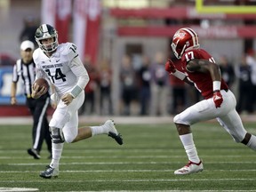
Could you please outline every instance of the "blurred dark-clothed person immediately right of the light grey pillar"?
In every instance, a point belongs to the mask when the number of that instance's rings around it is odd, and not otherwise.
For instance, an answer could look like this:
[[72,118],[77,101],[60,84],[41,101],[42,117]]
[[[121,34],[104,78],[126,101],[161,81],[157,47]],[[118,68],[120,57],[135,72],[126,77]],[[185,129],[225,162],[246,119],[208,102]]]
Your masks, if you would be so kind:
[[120,69],[121,97],[124,104],[122,115],[131,115],[131,104],[135,97],[136,74],[130,56],[124,55]]

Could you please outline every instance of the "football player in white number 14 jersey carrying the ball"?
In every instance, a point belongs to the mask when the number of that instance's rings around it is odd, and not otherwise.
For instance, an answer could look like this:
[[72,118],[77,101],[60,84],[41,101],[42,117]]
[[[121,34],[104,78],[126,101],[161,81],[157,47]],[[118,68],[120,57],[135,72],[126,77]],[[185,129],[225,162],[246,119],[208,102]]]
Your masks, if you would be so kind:
[[[120,145],[123,139],[116,131],[113,120],[108,120],[100,126],[78,129],[78,108],[84,102],[84,87],[89,82],[89,76],[76,52],[76,45],[71,43],[58,44],[58,34],[51,25],[43,24],[36,30],[36,42],[39,48],[33,54],[36,63],[36,79],[43,77],[51,81],[52,100],[57,104],[50,129],[52,136],[52,162],[46,170],[40,173],[45,179],[56,178],[59,175],[59,162],[64,142],[73,143],[98,134],[108,134]],[[38,84],[33,84],[32,97],[37,99],[44,92]]]

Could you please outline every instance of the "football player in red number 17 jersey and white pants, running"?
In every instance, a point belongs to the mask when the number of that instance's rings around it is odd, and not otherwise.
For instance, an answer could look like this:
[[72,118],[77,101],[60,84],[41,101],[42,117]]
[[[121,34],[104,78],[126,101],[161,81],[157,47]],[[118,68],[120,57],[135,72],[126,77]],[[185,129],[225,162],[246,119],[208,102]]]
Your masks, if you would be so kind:
[[174,174],[190,174],[204,169],[190,128],[200,121],[216,118],[236,142],[256,150],[256,137],[244,129],[236,112],[236,98],[221,78],[220,68],[212,56],[200,49],[196,32],[192,28],[180,28],[172,38],[172,51],[181,60],[182,68],[177,70],[172,60],[167,60],[165,70],[188,84],[194,84],[204,97],[204,100],[174,116],[173,121],[188,156],[188,164]]

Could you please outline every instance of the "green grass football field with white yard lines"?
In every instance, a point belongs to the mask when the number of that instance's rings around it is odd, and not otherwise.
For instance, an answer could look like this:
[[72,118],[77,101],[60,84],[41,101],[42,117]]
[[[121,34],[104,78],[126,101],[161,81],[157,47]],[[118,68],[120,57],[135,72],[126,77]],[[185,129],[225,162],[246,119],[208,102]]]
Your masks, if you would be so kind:
[[[256,123],[246,123],[256,133]],[[256,191],[256,153],[236,144],[219,124],[193,126],[204,172],[175,176],[188,162],[173,124],[117,124],[124,145],[100,135],[66,143],[58,179],[38,176],[50,163],[27,154],[30,125],[0,125],[1,188],[39,191]]]

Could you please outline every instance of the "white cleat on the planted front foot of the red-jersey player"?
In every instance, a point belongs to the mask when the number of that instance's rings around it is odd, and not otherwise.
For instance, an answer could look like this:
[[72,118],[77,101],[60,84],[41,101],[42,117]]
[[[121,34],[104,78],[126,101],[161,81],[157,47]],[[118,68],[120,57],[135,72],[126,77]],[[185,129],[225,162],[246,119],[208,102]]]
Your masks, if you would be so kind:
[[179,170],[176,170],[174,174],[184,175],[184,174],[191,174],[195,172],[202,172],[203,170],[204,170],[204,166],[202,161],[200,161],[198,164],[188,161],[188,164],[186,164],[184,167],[180,168]]

